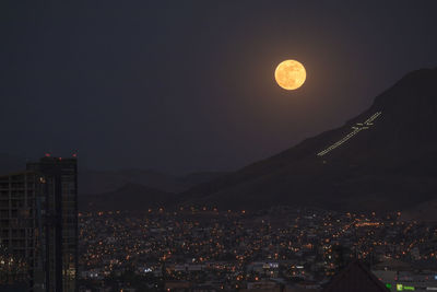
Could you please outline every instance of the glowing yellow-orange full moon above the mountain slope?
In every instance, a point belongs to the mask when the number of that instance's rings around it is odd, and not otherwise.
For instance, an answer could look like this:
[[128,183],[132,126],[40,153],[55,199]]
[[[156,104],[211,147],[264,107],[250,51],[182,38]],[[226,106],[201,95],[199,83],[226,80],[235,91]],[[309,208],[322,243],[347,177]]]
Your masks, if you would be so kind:
[[305,67],[295,60],[285,60],[281,62],[274,71],[274,78],[277,85],[284,90],[297,90],[304,84],[307,72]]

